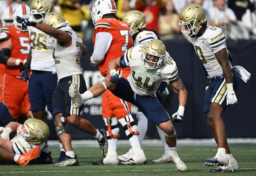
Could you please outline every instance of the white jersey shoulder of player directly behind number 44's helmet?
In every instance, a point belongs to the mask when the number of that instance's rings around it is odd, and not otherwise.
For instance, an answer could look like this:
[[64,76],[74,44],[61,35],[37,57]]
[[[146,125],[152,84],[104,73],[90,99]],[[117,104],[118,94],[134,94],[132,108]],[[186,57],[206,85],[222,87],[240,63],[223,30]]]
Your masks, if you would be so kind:
[[153,39],[158,39],[157,34],[155,34],[153,31],[140,31],[133,41],[134,46],[144,45]]

